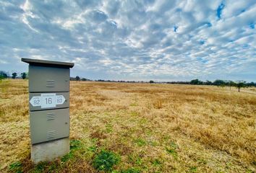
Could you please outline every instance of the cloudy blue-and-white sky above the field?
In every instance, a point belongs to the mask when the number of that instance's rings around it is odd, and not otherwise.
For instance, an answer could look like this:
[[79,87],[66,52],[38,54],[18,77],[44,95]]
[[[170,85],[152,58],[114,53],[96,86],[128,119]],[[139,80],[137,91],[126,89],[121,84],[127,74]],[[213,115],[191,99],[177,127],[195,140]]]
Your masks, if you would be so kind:
[[255,0],[0,0],[0,70],[24,57],[88,79],[256,81],[255,25]]

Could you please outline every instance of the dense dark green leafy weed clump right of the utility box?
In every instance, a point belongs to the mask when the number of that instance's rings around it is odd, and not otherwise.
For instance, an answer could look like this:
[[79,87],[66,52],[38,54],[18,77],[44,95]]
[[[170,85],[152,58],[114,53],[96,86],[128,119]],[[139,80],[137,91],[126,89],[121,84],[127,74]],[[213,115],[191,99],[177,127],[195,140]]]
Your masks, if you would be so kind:
[[120,161],[120,156],[113,151],[101,150],[93,159],[93,167],[99,171],[110,172]]

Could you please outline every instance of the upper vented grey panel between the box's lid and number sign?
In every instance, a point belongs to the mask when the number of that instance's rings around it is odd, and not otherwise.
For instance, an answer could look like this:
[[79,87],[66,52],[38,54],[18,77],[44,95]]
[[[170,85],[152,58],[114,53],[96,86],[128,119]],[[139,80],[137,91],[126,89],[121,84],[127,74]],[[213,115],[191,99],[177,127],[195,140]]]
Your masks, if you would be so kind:
[[29,92],[69,92],[69,68],[29,66]]

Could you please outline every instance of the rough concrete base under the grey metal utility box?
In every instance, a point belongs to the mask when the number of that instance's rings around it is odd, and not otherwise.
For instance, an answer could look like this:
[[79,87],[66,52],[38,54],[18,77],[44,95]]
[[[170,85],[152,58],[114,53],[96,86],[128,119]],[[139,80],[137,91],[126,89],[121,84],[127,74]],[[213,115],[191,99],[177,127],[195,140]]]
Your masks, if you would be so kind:
[[31,146],[31,160],[34,164],[40,161],[53,161],[69,153],[69,138],[61,138]]

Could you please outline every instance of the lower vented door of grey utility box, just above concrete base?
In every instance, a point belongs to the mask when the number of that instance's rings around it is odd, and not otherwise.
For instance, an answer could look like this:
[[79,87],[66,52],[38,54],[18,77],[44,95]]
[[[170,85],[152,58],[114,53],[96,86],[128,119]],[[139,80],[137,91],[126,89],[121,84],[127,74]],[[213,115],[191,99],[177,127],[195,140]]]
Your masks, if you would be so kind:
[[31,143],[69,136],[69,108],[30,112]]

